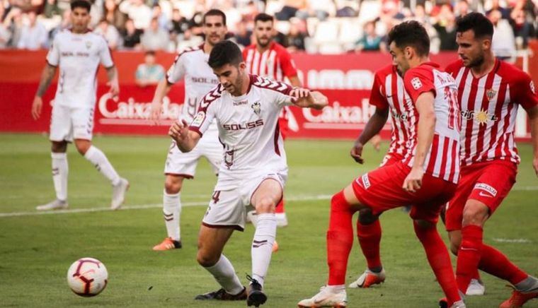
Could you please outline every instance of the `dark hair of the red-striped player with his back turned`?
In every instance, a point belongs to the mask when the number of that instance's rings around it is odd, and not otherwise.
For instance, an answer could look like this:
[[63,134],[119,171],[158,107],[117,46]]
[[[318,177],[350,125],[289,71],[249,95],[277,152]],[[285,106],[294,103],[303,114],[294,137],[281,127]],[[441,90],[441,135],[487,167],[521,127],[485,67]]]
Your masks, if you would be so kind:
[[389,45],[392,42],[400,49],[413,47],[419,56],[428,56],[430,53],[428,32],[416,20],[409,20],[395,25],[389,32]]

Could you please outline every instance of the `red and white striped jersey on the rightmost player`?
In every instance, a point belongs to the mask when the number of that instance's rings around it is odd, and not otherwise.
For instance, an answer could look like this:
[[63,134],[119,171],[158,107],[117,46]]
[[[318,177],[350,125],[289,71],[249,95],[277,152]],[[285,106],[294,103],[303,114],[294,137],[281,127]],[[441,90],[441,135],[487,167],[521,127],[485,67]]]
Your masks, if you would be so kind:
[[462,166],[491,160],[519,163],[514,142],[517,105],[525,109],[538,105],[530,76],[499,60],[479,78],[461,60],[447,66],[447,72],[456,78],[462,110]]

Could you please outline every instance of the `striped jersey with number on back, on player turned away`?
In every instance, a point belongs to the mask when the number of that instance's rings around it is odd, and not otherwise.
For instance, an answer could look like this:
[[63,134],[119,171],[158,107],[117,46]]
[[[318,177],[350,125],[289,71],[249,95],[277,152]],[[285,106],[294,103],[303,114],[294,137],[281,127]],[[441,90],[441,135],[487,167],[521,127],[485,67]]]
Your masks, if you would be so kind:
[[457,86],[449,73],[441,71],[439,65],[427,62],[420,64],[404,76],[404,86],[413,101],[409,115],[408,153],[404,162],[413,166],[418,141],[418,119],[416,101],[422,93],[435,95],[435,134],[432,146],[424,161],[425,173],[445,181],[456,183],[459,179],[459,131],[461,117],[457,102]]

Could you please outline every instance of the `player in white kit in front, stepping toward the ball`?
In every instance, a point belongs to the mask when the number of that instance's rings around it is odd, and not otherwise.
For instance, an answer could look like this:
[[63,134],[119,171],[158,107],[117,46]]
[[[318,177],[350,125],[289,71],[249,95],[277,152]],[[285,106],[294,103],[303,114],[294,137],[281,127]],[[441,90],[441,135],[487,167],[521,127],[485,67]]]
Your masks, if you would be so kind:
[[[297,105],[322,109],[327,97],[319,92],[267,78],[249,75],[234,42],[213,47],[208,64],[219,85],[200,102],[190,126],[185,119],[170,128],[178,148],[193,150],[216,120],[224,160],[212,201],[202,220],[198,237],[198,263],[222,286],[220,290],[198,295],[197,300],[247,300],[258,307],[267,300],[263,282],[275,241],[275,206],[282,199],[287,179],[286,153],[277,129],[282,107]],[[246,206],[258,213],[258,225],[251,246],[252,276],[248,290],[237,277],[234,266],[222,249],[234,230],[244,230]]]

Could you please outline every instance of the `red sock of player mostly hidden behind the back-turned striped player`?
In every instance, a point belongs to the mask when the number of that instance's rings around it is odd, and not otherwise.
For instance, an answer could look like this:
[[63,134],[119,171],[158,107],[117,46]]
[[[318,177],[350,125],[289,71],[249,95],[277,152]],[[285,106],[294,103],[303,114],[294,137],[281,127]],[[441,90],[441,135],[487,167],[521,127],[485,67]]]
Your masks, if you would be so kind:
[[360,249],[365,255],[368,268],[381,267],[381,257],[379,256],[379,242],[381,242],[381,224],[379,219],[370,225],[362,225],[357,220],[357,238]]

